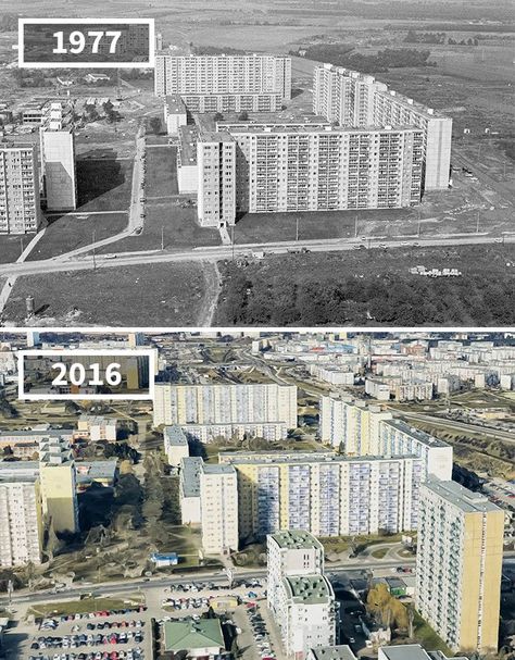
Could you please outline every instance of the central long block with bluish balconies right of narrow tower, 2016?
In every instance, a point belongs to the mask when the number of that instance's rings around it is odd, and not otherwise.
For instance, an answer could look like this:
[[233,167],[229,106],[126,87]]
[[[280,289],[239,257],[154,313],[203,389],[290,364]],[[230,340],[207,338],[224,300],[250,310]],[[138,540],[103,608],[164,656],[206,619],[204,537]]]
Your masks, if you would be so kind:
[[352,536],[416,530],[422,461],[332,452],[227,452],[238,475],[239,537],[277,530]]

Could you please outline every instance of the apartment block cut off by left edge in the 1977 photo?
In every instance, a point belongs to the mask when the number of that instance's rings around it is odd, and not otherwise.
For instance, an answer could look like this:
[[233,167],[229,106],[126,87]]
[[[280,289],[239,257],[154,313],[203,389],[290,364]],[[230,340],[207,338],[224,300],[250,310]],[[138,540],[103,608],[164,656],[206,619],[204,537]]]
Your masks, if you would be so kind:
[[0,144],[0,234],[37,232],[39,176],[33,145]]

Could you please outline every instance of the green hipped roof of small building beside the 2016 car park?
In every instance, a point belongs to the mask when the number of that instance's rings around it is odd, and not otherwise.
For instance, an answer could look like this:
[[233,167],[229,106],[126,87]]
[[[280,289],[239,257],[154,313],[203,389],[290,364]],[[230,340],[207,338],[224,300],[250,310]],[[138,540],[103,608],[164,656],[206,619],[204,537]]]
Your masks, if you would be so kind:
[[165,650],[183,651],[206,647],[225,648],[218,619],[166,621],[164,623]]

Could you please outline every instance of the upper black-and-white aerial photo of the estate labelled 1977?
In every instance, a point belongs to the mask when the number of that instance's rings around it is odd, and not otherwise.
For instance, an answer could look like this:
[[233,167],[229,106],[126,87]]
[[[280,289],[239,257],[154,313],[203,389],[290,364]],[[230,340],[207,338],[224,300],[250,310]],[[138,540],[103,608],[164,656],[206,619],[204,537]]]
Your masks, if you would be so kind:
[[3,3],[0,324],[513,325],[514,35],[512,0]]

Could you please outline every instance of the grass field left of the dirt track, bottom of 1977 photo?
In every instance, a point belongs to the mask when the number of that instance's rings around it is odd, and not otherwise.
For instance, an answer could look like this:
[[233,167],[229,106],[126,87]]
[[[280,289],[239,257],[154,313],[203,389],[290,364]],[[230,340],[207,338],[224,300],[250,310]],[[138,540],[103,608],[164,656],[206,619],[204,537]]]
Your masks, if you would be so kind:
[[36,325],[196,325],[205,306],[198,264],[158,264],[27,275],[14,285],[3,317],[24,325],[33,295]]

